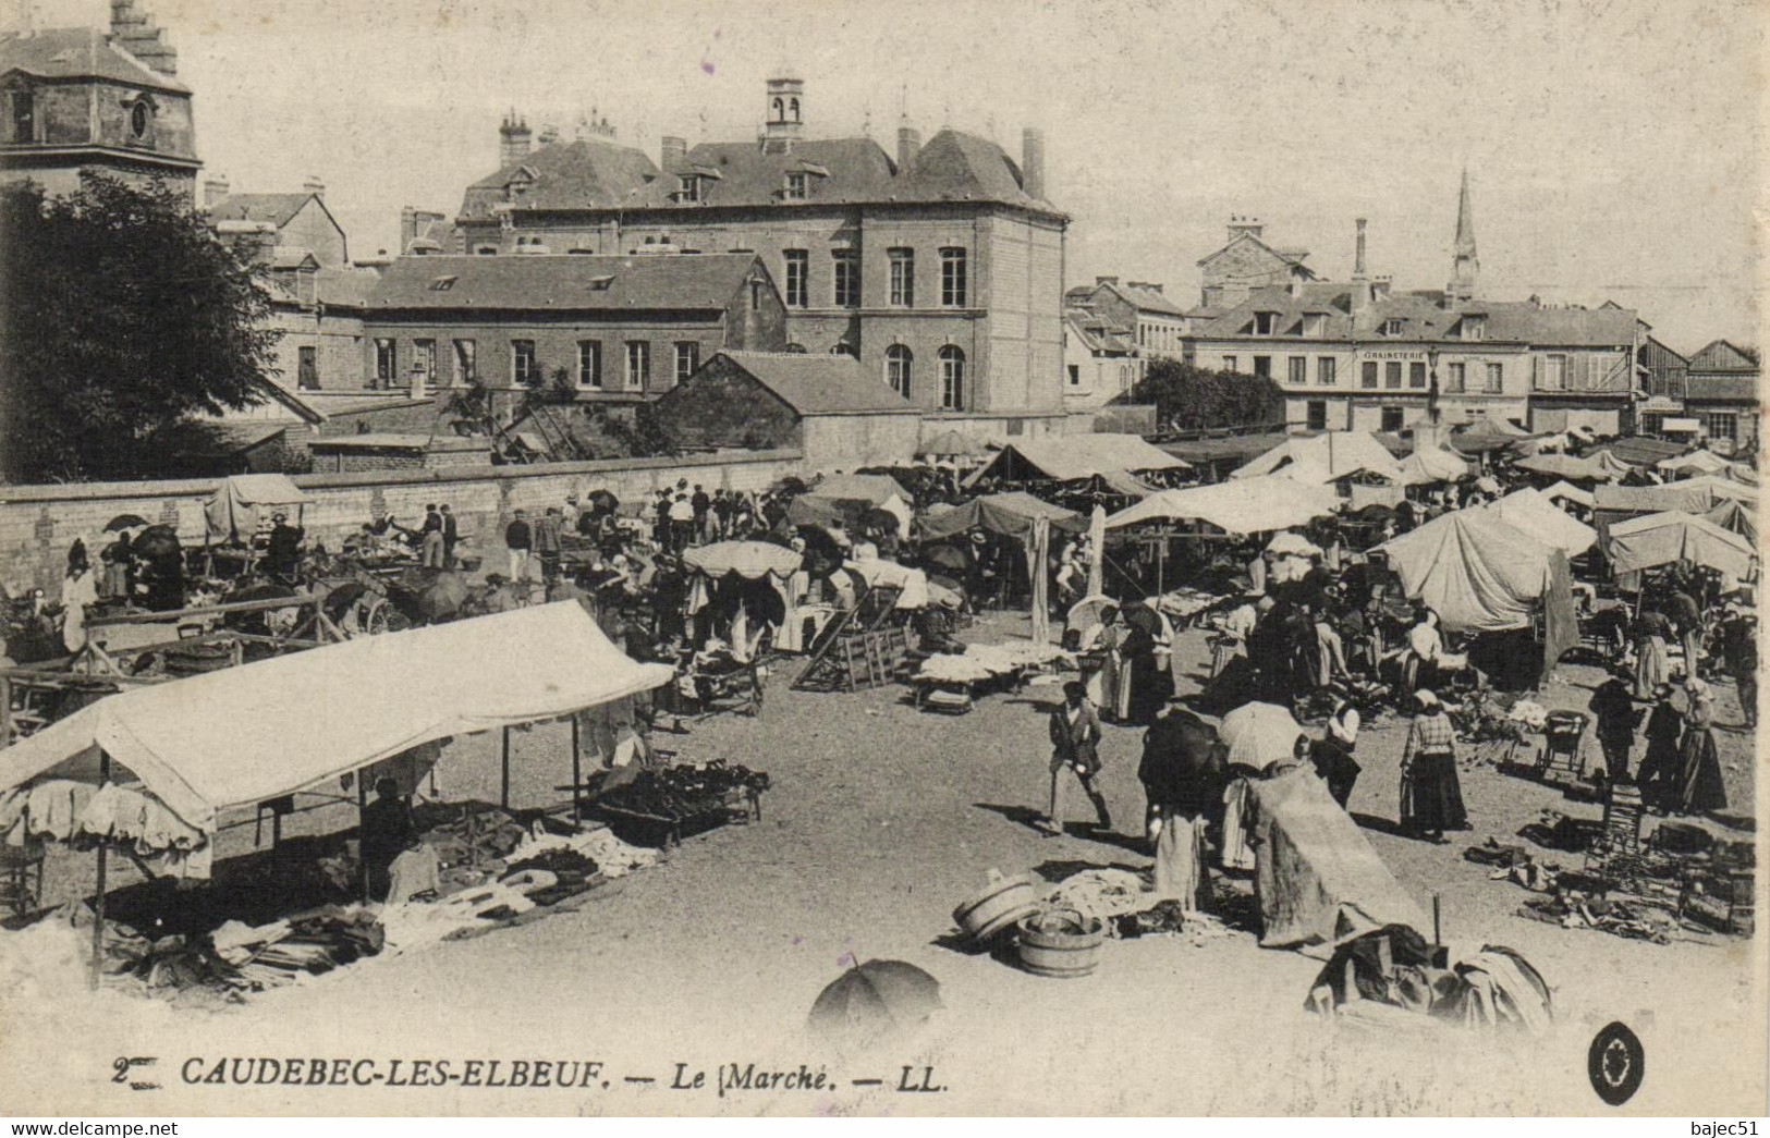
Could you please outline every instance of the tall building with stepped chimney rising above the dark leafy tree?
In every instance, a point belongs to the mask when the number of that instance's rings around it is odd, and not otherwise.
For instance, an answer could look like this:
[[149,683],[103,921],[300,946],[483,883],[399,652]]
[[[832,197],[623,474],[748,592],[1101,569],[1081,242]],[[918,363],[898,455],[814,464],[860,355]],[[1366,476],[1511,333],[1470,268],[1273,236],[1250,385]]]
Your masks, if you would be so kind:
[[196,138],[179,57],[135,0],[112,0],[110,30],[42,28],[0,35],[0,179],[51,195],[94,170],[161,179],[191,200]]

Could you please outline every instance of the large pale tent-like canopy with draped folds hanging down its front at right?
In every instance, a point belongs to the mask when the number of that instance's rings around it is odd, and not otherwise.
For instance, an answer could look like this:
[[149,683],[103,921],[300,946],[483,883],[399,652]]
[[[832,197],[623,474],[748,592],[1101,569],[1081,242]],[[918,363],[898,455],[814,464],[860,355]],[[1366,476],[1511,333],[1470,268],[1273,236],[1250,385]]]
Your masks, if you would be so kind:
[[1451,632],[1528,628],[1554,575],[1554,549],[1485,510],[1446,513],[1377,552]]

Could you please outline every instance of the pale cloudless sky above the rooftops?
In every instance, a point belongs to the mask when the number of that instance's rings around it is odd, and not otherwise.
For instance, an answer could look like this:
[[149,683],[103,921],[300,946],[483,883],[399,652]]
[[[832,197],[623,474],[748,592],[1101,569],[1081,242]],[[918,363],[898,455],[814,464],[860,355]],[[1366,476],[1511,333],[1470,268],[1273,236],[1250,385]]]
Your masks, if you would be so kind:
[[[104,0],[0,0],[16,27]],[[1489,299],[1637,308],[1673,349],[1756,340],[1766,19],[1754,0],[142,0],[179,50],[205,175],[310,175],[356,257],[402,205],[453,214],[508,108],[589,108],[658,136],[754,136],[763,81],[805,80],[807,133],[901,115],[1046,135],[1069,283],[1198,299],[1230,214],[1329,280],[1370,219],[1397,288],[1450,274],[1469,170]]]

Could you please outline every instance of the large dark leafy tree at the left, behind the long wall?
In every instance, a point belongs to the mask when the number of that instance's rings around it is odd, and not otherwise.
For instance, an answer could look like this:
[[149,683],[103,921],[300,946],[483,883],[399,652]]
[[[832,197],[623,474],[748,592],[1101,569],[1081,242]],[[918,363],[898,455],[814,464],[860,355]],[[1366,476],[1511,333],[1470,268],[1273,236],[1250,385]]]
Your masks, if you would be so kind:
[[266,281],[161,182],[0,188],[0,473],[152,478],[158,432],[262,402]]

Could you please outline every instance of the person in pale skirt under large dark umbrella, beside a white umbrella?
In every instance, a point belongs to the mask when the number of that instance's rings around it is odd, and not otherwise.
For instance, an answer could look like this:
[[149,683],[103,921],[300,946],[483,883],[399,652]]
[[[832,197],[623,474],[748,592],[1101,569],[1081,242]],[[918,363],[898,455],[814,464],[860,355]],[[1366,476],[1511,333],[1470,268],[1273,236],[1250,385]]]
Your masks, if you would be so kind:
[[1179,901],[1189,911],[1211,906],[1204,835],[1223,809],[1223,754],[1216,729],[1177,704],[1143,733],[1136,779],[1149,798],[1156,839],[1156,897]]

